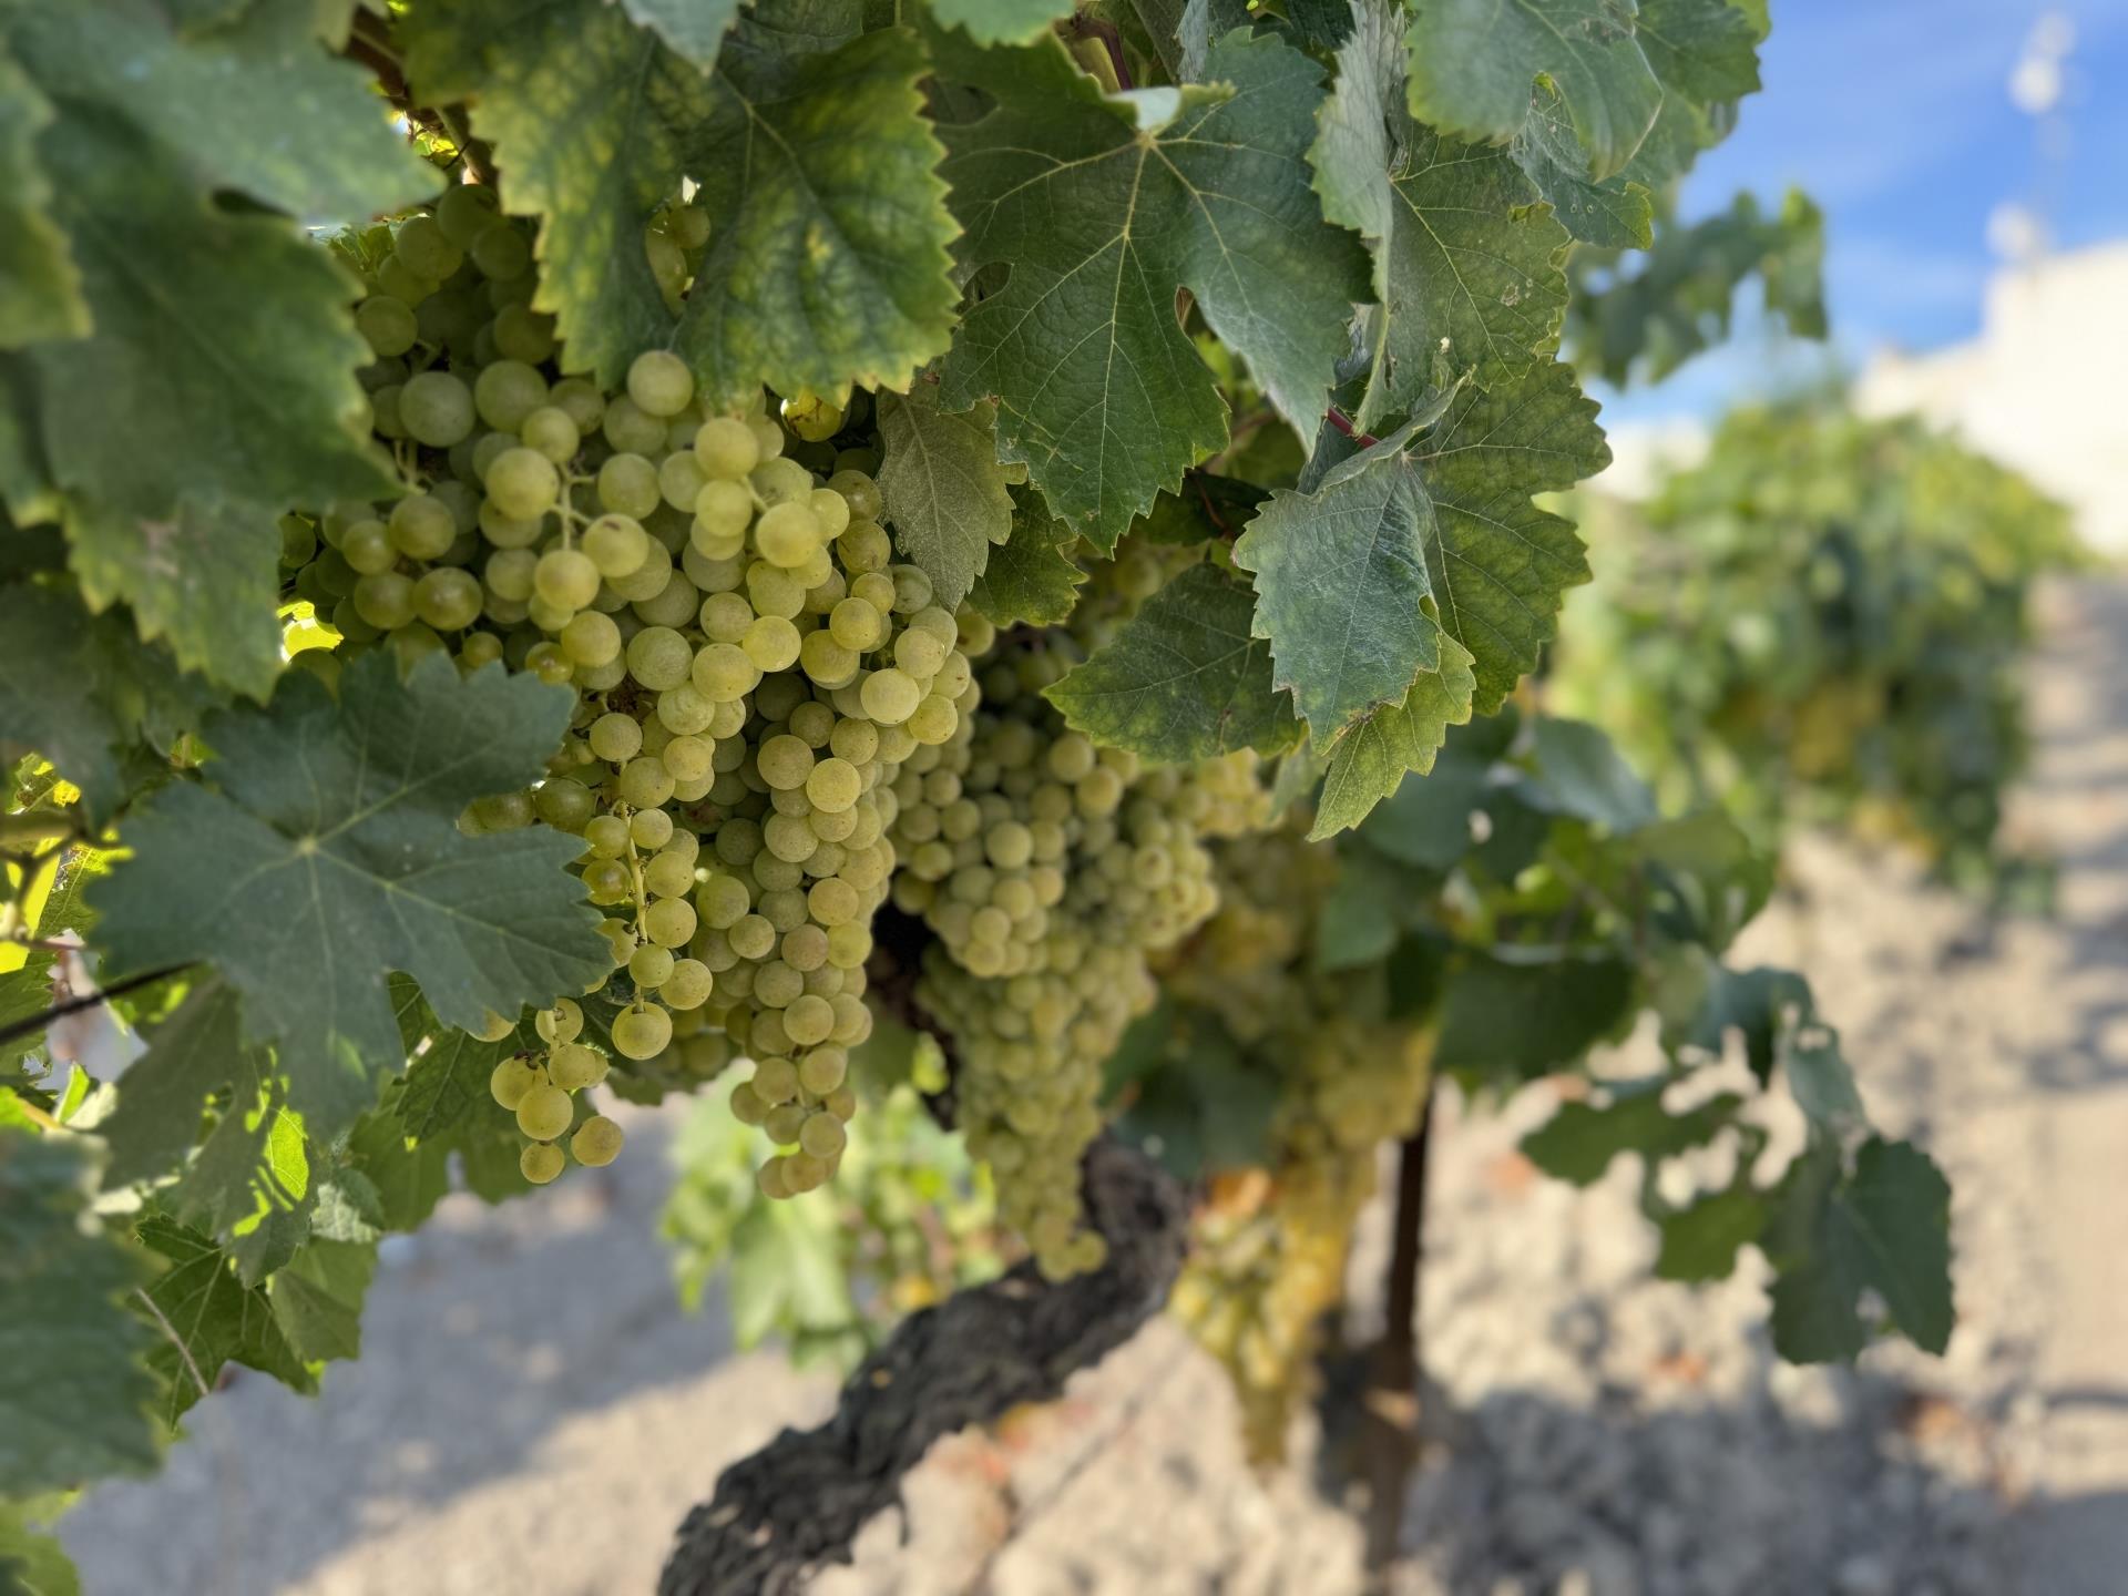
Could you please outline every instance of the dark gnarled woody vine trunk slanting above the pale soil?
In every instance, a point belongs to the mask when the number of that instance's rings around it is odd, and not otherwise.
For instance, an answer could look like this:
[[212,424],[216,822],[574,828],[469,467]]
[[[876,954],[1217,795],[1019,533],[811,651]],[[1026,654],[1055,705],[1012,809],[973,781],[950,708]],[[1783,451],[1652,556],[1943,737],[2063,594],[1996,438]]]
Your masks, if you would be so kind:
[[843,1387],[834,1417],[724,1470],[681,1524],[660,1596],[800,1596],[821,1566],[849,1562],[858,1532],[900,1500],[902,1475],[934,1441],[1053,1400],[1136,1334],[1181,1270],[1183,1192],[1111,1136],[1087,1147],[1083,1181],[1107,1264],[1051,1283],[1024,1262],[904,1319]]

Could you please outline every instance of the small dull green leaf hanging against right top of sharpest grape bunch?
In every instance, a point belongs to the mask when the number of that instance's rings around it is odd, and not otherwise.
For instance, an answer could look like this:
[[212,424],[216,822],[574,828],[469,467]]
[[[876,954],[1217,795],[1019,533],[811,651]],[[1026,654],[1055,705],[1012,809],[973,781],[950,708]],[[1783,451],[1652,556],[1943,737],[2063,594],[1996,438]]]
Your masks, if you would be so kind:
[[879,494],[902,558],[932,579],[953,609],[983,575],[992,543],[1013,530],[1013,496],[998,464],[990,404],[951,413],[938,389],[915,383],[909,398],[879,396]]

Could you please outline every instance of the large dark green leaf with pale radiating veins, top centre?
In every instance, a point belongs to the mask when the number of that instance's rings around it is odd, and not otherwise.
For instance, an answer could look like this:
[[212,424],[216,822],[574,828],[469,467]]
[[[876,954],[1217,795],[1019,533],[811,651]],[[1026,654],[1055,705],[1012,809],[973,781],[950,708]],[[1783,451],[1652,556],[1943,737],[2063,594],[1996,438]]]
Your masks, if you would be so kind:
[[998,400],[998,449],[1049,509],[1115,547],[1160,487],[1226,443],[1226,404],[1177,292],[1302,436],[1347,349],[1366,255],[1321,217],[1302,155],[1324,72],[1230,36],[1211,87],[1104,98],[1055,38],[977,49],[932,30],[938,72],[994,109],[943,128],[968,268],[1009,266],[962,321],[943,400]]

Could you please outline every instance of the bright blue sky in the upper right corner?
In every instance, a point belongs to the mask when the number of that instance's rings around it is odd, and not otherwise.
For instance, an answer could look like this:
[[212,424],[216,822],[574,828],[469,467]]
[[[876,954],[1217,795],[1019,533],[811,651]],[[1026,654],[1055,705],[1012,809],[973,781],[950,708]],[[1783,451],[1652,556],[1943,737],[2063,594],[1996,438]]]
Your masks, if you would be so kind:
[[[2009,74],[2034,19],[2077,30],[2062,123],[2066,155],[2039,155]],[[2128,234],[2128,0],[1773,0],[1764,89],[1700,160],[1688,217],[1736,189],[1777,202],[1796,185],[1824,209],[1836,353],[1932,349],[1971,336],[1996,257],[1988,217],[2043,206],[2058,245]],[[1707,413],[1764,387],[1788,360],[1749,332],[1668,383],[1605,396],[1613,419]]]

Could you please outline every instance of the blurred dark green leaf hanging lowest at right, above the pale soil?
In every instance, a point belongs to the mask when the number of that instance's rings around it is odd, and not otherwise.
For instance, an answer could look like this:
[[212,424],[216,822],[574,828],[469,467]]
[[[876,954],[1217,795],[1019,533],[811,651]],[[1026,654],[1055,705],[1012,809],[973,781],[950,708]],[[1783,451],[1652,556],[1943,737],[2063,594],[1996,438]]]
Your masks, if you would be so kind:
[[[1773,1345],[1794,1364],[1851,1360],[1868,1343],[1860,1298],[1877,1292],[1924,1351],[1951,1339],[1951,1187],[1928,1153],[1871,1136],[1853,1175],[1792,1173],[1773,1283]],[[1800,1179],[1796,1175],[1800,1173]]]

